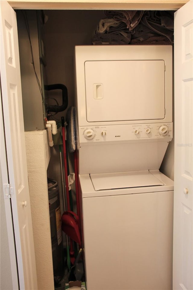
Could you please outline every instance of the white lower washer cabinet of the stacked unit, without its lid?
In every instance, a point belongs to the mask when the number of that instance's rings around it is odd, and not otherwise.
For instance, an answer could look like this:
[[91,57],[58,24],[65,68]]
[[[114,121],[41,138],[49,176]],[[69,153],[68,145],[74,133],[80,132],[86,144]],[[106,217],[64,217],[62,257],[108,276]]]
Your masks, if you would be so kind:
[[172,289],[173,181],[151,173],[163,185],[95,191],[80,175],[88,290]]

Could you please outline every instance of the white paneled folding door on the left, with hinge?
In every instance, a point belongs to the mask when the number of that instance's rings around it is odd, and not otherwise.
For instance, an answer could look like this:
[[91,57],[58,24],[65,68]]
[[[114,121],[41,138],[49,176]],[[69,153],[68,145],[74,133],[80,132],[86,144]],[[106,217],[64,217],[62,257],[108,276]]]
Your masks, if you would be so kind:
[[[1,7],[1,89],[5,143],[20,289],[37,289],[24,139],[17,21],[6,1]],[[5,168],[6,170],[7,168]],[[3,183],[5,181],[3,180]],[[4,184],[5,194],[8,185]],[[9,198],[5,197],[5,198]],[[9,229],[8,229],[9,230]]]

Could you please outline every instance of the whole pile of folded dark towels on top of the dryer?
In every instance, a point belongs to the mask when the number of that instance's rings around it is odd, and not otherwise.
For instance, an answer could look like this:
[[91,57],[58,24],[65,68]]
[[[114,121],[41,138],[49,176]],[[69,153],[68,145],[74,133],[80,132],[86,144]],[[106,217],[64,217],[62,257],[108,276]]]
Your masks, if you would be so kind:
[[172,44],[174,11],[104,11],[93,44]]

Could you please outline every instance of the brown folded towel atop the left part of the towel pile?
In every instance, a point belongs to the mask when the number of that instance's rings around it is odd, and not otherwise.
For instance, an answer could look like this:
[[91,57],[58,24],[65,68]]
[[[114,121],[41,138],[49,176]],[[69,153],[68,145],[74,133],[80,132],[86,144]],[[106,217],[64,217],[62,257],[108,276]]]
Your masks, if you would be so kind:
[[133,30],[141,20],[143,10],[105,10],[105,15],[108,18],[113,18],[117,21],[123,21],[127,24],[129,31]]

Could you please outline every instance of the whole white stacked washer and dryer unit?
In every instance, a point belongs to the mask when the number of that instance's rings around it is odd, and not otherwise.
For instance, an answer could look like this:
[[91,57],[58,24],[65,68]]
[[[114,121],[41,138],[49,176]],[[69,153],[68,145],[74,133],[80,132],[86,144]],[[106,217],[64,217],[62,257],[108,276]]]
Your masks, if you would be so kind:
[[77,46],[75,68],[87,289],[172,289],[172,47]]

